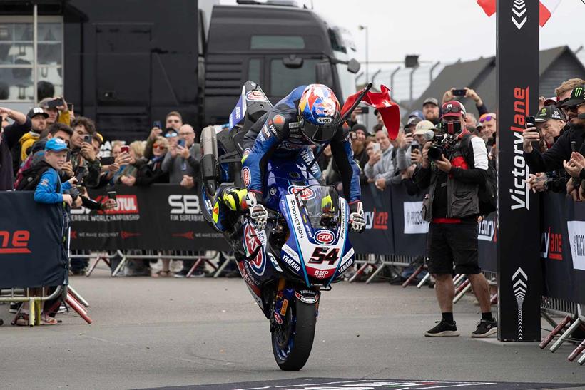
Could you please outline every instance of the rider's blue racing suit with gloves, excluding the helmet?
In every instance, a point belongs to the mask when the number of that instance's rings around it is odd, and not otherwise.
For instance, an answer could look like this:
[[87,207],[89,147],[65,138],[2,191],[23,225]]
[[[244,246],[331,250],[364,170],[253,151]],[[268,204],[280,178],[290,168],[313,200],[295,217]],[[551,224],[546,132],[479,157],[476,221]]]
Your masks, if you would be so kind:
[[[271,158],[300,159],[309,165],[314,156],[310,146],[313,143],[302,133],[298,115],[298,103],[306,86],[292,90],[279,101],[265,117],[263,125],[255,123],[248,133],[248,140],[253,132],[258,131],[253,145],[244,144],[242,177],[248,190],[248,209],[250,217],[257,226],[263,228],[268,218],[262,200],[265,192],[265,177],[268,161]],[[360,201],[360,168],[353,159],[353,151],[347,127],[338,126],[337,132],[330,140],[332,157],[340,170],[345,198],[350,205],[350,225],[352,230],[360,231],[365,227],[363,207]],[[248,172],[246,172],[248,170]],[[321,172],[315,163],[311,168],[315,178],[321,178]]]

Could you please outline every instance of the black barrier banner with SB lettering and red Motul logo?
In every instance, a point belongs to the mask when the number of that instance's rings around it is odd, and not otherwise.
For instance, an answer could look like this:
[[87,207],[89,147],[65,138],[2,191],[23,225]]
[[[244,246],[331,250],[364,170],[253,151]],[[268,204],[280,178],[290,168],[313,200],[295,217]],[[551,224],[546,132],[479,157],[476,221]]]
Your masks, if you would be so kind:
[[116,191],[117,207],[71,210],[73,250],[229,250],[228,243],[203,218],[193,189],[156,184],[90,190],[98,202]]

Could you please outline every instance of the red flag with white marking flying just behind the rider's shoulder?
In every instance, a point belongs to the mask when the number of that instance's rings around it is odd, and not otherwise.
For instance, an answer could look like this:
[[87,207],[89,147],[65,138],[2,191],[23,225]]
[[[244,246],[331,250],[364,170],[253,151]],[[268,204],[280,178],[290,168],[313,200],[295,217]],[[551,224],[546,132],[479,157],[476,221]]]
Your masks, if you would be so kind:
[[[388,136],[391,140],[394,140],[398,135],[398,130],[400,130],[400,108],[398,108],[396,103],[390,100],[390,90],[386,88],[386,86],[380,85],[380,91],[381,92],[367,91],[362,102],[366,103],[368,106],[377,108],[377,111],[380,111],[384,125],[388,130]],[[357,96],[360,96],[360,93],[362,92],[360,91],[347,97],[347,100],[341,109],[341,116],[352,107]]]

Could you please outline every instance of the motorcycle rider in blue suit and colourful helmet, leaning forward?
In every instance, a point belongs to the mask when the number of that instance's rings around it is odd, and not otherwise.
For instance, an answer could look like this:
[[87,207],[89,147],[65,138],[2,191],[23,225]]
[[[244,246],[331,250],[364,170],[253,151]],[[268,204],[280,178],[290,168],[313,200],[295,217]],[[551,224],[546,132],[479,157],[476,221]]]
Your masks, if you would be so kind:
[[[250,128],[244,144],[242,178],[247,193],[237,188],[224,188],[220,199],[230,210],[239,205],[248,208],[250,218],[258,229],[264,229],[268,211],[263,205],[265,175],[271,158],[296,159],[309,165],[313,154],[311,145],[330,144],[332,155],[340,170],[345,198],[350,206],[350,227],[362,232],[365,228],[363,205],[360,200],[360,168],[353,159],[349,129],[338,122],[340,103],[333,91],[322,84],[299,86],[279,101]],[[262,124],[260,126],[260,124]],[[312,165],[315,178],[321,177],[317,164]],[[215,217],[214,210],[214,220]],[[220,218],[218,218],[220,219]]]

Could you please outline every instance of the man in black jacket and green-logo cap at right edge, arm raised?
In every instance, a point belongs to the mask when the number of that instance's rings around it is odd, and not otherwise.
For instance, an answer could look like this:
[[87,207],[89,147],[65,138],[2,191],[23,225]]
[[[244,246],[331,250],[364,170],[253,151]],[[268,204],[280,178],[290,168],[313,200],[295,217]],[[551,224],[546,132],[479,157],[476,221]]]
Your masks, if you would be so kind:
[[[571,96],[561,106],[569,129],[544,153],[533,148],[532,143],[539,143],[541,136],[536,127],[527,128],[523,133],[524,159],[533,172],[549,172],[564,168],[574,180],[567,183],[567,192],[579,198],[579,182],[585,178],[585,86],[579,86],[571,91]],[[576,152],[573,152],[571,143],[574,143]]]

